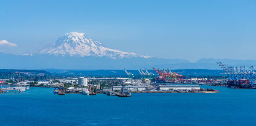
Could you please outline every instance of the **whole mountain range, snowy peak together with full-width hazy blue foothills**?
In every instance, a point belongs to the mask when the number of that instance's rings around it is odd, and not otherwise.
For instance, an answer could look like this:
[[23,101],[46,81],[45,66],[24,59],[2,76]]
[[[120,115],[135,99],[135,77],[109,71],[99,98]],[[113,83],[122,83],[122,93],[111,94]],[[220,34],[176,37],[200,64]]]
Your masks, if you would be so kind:
[[256,60],[199,59],[189,62],[185,59],[163,59],[143,56],[107,48],[84,33],[70,32],[56,42],[27,52],[23,55],[0,53],[0,68],[5,69],[79,69],[79,70],[122,70],[151,69],[151,67],[172,70],[210,69],[221,70],[216,62],[230,66],[256,66]]

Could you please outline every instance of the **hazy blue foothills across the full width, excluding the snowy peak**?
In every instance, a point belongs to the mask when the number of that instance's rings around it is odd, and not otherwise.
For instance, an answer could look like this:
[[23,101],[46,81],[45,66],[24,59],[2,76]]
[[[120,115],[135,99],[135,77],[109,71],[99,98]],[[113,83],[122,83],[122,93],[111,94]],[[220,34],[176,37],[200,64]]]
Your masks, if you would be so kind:
[[116,58],[110,59],[106,56],[55,56],[35,55],[21,56],[0,53],[0,68],[4,69],[79,69],[79,70],[122,70],[122,69],[151,69],[151,67],[172,70],[177,69],[209,69],[221,70],[216,62],[222,62],[228,66],[256,66],[256,60],[233,60],[233,59],[200,59],[192,63],[183,59],[161,59],[161,58]]

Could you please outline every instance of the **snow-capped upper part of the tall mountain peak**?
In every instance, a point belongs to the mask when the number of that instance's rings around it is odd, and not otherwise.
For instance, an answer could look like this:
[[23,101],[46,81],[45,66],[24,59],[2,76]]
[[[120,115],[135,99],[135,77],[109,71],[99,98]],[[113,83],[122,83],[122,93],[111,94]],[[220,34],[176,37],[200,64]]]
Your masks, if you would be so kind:
[[55,56],[106,56],[111,59],[116,58],[132,58],[142,57],[150,58],[151,56],[142,56],[137,53],[123,52],[116,49],[107,48],[100,42],[87,37],[84,33],[70,32],[64,34],[52,44],[46,45],[43,48],[38,48],[25,55],[50,54]]

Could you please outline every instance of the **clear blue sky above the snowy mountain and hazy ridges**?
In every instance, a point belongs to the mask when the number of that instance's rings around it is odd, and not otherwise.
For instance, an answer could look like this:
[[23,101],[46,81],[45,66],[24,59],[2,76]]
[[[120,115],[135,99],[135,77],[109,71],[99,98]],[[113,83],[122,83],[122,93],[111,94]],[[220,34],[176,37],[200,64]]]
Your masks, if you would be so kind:
[[22,54],[83,32],[109,48],[167,59],[256,59],[255,0],[2,0],[0,51]]

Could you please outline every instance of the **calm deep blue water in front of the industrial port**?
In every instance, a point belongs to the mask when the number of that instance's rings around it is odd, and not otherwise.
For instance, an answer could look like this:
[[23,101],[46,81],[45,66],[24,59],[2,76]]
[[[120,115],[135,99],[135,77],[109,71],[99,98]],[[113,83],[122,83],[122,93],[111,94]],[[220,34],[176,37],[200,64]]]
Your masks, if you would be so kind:
[[[206,88],[207,86],[201,86]],[[256,89],[210,87],[220,93],[133,93],[64,96],[31,87],[0,94],[0,125],[254,126]]]

